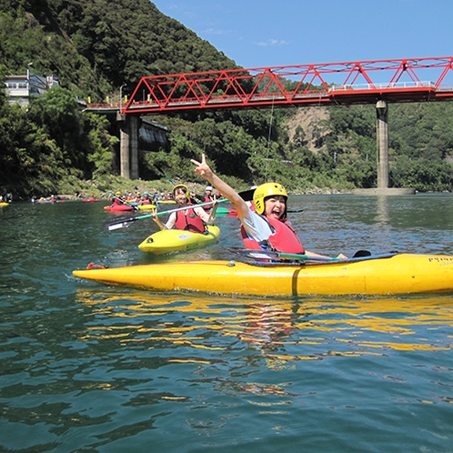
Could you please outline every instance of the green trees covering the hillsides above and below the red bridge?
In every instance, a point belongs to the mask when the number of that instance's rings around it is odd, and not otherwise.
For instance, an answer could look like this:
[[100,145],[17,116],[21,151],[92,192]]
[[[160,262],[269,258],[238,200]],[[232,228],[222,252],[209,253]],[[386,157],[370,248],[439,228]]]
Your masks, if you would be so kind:
[[[2,78],[33,62],[36,74],[55,74],[61,85],[28,108],[10,106],[0,90],[0,193],[23,197],[139,186],[112,176],[117,126],[83,112],[76,97],[100,102],[119,86],[130,95],[141,76],[237,67],[148,0],[0,0],[0,57]],[[204,152],[238,189],[265,180],[293,192],[376,186],[374,106],[331,107],[327,119],[290,136],[296,113],[153,117],[171,131],[171,147],[144,153],[140,176],[164,188],[160,167],[199,183],[189,159]],[[449,103],[389,106],[390,186],[453,191],[452,116]]]

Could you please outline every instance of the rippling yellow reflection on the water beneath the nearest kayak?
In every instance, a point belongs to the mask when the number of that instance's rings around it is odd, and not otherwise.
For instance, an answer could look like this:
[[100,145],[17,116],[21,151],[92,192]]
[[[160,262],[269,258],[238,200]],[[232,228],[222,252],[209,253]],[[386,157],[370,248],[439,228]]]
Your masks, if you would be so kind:
[[77,291],[76,300],[90,319],[80,339],[186,347],[186,355],[167,357],[169,362],[214,363],[225,350],[240,349],[248,350],[252,361],[261,357],[268,367],[281,367],[295,360],[390,350],[449,350],[452,342],[453,298],[448,295],[263,301],[107,288]]

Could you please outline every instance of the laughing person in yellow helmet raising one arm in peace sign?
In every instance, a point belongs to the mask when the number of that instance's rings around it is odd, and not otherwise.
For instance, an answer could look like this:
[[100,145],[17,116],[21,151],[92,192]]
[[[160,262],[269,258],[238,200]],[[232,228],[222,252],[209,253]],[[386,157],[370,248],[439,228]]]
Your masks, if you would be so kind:
[[[201,162],[195,159],[191,159],[191,162],[196,165],[196,173],[215,186],[235,206],[241,221],[241,235],[247,248],[323,257],[307,251],[297,237],[296,231],[287,222],[287,190],[284,186],[277,183],[257,186],[253,196],[256,211],[254,212],[235,189],[213,173],[206,164],[204,154]],[[343,254],[338,257],[347,258]]]

